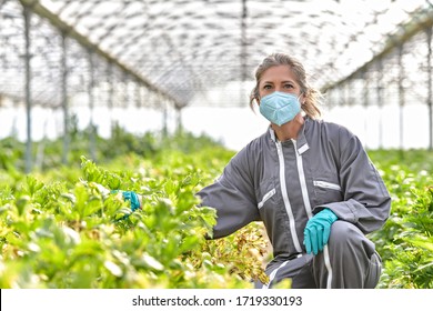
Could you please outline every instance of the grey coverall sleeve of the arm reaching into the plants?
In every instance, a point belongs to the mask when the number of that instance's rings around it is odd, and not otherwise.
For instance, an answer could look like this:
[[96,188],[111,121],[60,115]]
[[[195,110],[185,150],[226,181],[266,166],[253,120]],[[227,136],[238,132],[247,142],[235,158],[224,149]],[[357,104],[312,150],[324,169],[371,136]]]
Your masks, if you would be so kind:
[[251,221],[260,220],[246,149],[235,154],[221,177],[198,193],[201,205],[216,210],[213,238],[229,235]]

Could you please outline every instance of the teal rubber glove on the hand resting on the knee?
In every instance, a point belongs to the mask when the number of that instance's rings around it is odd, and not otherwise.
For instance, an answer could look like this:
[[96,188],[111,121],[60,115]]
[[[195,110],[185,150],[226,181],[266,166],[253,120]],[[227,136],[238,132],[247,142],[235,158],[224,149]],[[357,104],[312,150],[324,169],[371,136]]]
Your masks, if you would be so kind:
[[331,234],[331,225],[339,218],[330,209],[324,209],[312,217],[304,229],[304,245],[306,253],[318,254],[328,244]]

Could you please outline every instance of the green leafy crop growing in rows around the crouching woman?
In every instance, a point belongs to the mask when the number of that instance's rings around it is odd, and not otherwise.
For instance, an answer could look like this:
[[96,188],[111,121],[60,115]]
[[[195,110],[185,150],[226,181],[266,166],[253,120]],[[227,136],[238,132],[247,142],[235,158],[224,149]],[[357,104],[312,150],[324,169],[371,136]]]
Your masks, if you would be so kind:
[[[199,208],[195,193],[233,151],[187,132],[114,133],[97,138],[95,161],[87,152],[88,132],[74,129],[68,165],[61,141],[44,141],[31,174],[22,172],[23,144],[0,141],[1,288],[252,288],[266,281],[271,254],[261,223],[205,239],[215,212]],[[370,235],[383,260],[379,288],[432,288],[433,153],[369,154],[392,195],[389,220]],[[142,209],[132,212],[112,190],[135,191]]]

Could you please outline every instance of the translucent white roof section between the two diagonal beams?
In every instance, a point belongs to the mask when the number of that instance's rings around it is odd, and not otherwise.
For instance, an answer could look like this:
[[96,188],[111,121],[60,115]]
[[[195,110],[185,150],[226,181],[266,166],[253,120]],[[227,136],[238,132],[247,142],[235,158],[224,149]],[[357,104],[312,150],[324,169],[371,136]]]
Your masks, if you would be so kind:
[[263,57],[275,51],[299,58],[319,88],[339,81],[379,53],[406,22],[433,8],[431,0],[39,3],[180,106],[215,87],[251,81]]

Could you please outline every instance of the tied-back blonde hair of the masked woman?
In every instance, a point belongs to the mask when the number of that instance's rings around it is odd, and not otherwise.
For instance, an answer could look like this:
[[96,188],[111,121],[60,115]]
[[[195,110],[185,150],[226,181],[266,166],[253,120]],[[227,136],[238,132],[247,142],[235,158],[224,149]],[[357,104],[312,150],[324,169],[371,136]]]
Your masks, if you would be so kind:
[[309,116],[311,119],[318,119],[322,116],[322,112],[319,106],[322,103],[322,93],[311,87],[306,81],[306,72],[304,67],[300,61],[290,57],[285,53],[272,53],[263,59],[262,63],[255,69],[255,87],[251,91],[250,94],[250,107],[253,108],[254,101],[256,103],[260,102],[259,94],[259,83],[260,79],[263,76],[263,72],[275,66],[289,66],[294,76],[296,77],[296,82],[301,87],[301,92],[303,93],[305,101],[302,104],[302,110]]

